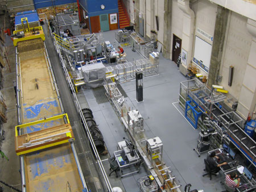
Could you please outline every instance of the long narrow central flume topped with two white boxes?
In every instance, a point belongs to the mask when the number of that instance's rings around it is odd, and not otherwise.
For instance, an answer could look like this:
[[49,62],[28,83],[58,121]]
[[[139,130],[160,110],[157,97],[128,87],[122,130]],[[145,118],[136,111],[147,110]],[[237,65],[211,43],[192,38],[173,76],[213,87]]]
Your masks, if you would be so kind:
[[118,94],[118,97],[114,97],[112,94],[112,90],[116,90],[117,85],[113,82],[108,82],[108,80],[105,82],[106,95],[110,103],[112,103],[118,118],[125,125],[125,131],[129,133],[131,140],[145,162],[147,170],[155,178],[158,186],[163,187],[166,191],[180,192],[180,185],[177,185],[176,177],[172,176],[170,167],[166,166],[162,160],[162,141],[159,142],[159,137],[158,139],[147,139],[143,128],[143,118],[139,114],[139,111],[130,110],[130,107],[126,105],[125,101],[122,103],[118,102],[122,98],[122,95]]

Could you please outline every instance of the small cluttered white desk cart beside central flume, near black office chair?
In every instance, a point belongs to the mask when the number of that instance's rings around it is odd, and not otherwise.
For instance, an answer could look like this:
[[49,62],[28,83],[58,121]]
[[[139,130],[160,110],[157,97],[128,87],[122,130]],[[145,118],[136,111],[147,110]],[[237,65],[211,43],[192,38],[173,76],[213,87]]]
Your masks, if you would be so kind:
[[[125,151],[125,155],[128,159],[127,161],[122,161],[122,156],[121,156],[122,151]],[[122,150],[115,151],[114,156],[120,168],[121,177],[139,172],[139,164],[141,162],[141,159],[139,158],[137,151],[134,150],[134,156],[132,157],[130,154],[130,150],[127,147],[123,147]],[[124,163],[122,164],[122,162]],[[130,168],[131,166],[135,166],[136,170],[123,174],[123,169]]]

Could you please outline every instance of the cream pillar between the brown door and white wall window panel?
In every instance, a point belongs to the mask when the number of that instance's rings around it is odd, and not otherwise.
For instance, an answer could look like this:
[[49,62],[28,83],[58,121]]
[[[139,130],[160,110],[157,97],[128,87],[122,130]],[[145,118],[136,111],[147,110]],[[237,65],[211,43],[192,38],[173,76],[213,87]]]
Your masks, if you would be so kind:
[[[187,63],[183,63],[188,68],[192,60],[193,37],[195,27],[195,12],[189,7],[189,0],[177,0],[177,5],[183,11],[183,31],[181,49],[187,52]],[[181,60],[182,62],[182,60]]]

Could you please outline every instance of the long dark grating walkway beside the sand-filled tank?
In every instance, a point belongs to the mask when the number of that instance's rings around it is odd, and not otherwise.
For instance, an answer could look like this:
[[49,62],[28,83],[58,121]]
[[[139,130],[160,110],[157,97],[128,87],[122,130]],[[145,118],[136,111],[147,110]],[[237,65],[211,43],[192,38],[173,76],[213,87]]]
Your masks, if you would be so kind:
[[[47,32],[46,27],[47,26],[45,25],[43,26],[44,32]],[[100,170],[98,169],[96,160],[92,155],[89,141],[84,132],[84,127],[82,127],[81,119],[79,117],[79,114],[77,113],[75,103],[73,102],[73,97],[71,96],[69,87],[63,74],[63,70],[60,66],[59,56],[57,56],[55,48],[53,47],[51,37],[46,36],[46,46],[49,52],[51,62],[53,64],[59,64],[53,65],[53,71],[56,77],[57,85],[60,90],[63,107],[68,113],[69,120],[72,125],[72,130],[75,136],[74,144],[81,164],[81,169],[84,174],[86,185],[88,186],[88,189],[92,192],[107,191],[107,187],[104,186],[104,184],[101,182],[102,178],[98,174],[100,173]]]

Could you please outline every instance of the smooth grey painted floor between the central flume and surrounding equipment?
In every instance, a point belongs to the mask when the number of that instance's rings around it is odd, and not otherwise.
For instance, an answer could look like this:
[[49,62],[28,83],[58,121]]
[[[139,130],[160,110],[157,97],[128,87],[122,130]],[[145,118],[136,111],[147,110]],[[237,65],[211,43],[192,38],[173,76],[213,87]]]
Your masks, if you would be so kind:
[[[117,48],[114,32],[104,32],[105,40]],[[138,52],[132,52],[131,48],[124,48],[127,53],[127,60],[142,59]],[[127,105],[136,108],[144,118],[144,128],[148,138],[159,136],[163,141],[163,160],[167,166],[171,166],[177,183],[181,184],[181,190],[187,183],[191,183],[191,189],[203,189],[207,192],[224,190],[220,185],[221,174],[209,180],[208,176],[202,177],[204,172],[204,158],[206,154],[198,157],[193,148],[197,145],[199,130],[194,130],[184,118],[184,111],[181,110],[177,101],[179,96],[179,83],[186,78],[177,70],[174,62],[164,59],[160,54],[159,75],[143,79],[143,102],[135,101],[135,81],[121,83],[126,91]],[[109,153],[117,149],[117,142],[126,136],[123,124],[117,118],[113,107],[109,102],[97,103],[92,89],[84,89],[84,95],[89,107],[93,111],[99,128],[104,135],[105,143]],[[106,166],[108,168],[108,166]],[[146,176],[144,169],[139,174],[133,174],[121,179],[125,190],[128,192],[139,191],[138,178]],[[113,178],[112,176],[111,178]]]

